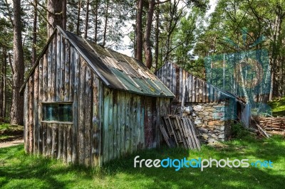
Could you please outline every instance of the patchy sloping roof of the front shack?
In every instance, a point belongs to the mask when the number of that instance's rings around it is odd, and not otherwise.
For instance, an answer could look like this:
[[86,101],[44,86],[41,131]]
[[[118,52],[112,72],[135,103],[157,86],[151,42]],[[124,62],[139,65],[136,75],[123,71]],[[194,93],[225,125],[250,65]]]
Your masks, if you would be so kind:
[[[145,96],[175,97],[140,61],[127,55],[103,48],[74,33],[56,27],[86,60],[100,80],[110,88]],[[32,69],[30,75],[34,69]],[[24,83],[24,85],[26,82]],[[24,86],[23,86],[24,87]]]

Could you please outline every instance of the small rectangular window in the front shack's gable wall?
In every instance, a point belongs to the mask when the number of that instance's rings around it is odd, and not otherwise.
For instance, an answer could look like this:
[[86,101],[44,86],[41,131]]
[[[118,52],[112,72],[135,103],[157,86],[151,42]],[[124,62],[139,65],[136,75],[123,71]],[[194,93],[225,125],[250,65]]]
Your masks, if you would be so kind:
[[43,103],[43,121],[72,122],[72,103]]

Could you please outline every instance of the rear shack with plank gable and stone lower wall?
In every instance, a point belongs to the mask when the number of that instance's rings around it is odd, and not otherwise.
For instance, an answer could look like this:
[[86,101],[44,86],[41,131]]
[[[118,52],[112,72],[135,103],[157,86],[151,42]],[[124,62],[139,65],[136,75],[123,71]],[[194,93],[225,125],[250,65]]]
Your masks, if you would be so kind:
[[155,75],[172,91],[172,114],[192,114],[205,141],[227,140],[231,121],[248,124],[248,104],[209,84],[175,63],[165,63]]

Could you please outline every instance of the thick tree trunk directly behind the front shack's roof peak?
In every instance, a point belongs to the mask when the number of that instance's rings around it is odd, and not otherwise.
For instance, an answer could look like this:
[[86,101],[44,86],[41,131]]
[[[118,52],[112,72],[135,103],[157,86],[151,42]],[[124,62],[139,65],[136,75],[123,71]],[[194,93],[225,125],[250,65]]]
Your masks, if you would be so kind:
[[53,33],[56,26],[63,26],[63,3],[62,1],[48,0],[48,37]]

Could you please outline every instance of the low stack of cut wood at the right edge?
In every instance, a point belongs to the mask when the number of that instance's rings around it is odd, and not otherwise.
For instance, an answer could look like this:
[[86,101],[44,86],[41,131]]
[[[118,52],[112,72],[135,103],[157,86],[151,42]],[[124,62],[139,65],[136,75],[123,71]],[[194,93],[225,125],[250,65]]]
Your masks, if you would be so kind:
[[266,131],[285,131],[285,117],[254,117]]

